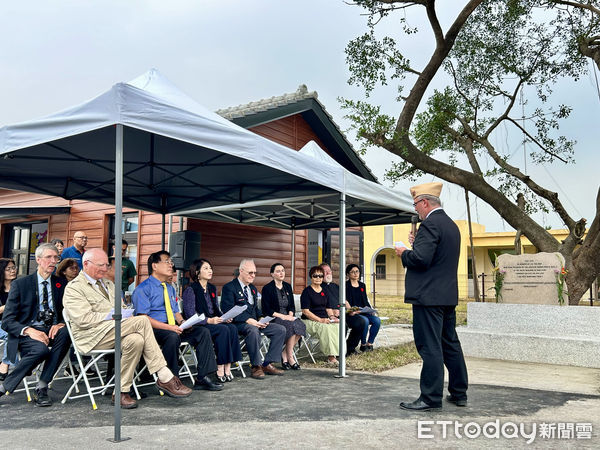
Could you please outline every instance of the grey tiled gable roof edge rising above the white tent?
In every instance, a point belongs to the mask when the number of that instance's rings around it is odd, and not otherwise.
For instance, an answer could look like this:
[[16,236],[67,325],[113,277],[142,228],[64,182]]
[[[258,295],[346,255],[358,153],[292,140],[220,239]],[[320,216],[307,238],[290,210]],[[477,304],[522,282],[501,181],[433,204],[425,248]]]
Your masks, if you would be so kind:
[[268,111],[271,109],[276,109],[276,108],[279,108],[282,106],[291,105],[293,103],[297,103],[302,100],[307,100],[307,99],[312,98],[319,104],[319,106],[321,107],[323,112],[327,115],[327,117],[329,118],[329,120],[331,121],[331,123],[333,124],[335,129],[337,130],[337,132],[342,136],[344,141],[346,141],[350,151],[354,153],[356,158],[358,158],[358,160],[361,162],[361,164],[373,176],[373,179],[377,180],[377,177],[375,177],[375,174],[373,174],[371,169],[367,166],[364,159],[362,159],[362,157],[358,153],[356,153],[356,151],[354,150],[354,147],[352,147],[352,144],[350,143],[350,141],[348,141],[348,138],[346,138],[346,135],[342,132],[342,130],[340,130],[340,127],[337,125],[337,123],[335,123],[331,114],[329,114],[327,112],[327,110],[325,109],[325,106],[319,101],[318,96],[319,95],[317,94],[316,91],[309,92],[306,85],[301,84],[300,86],[298,86],[298,89],[296,90],[296,92],[278,95],[278,96],[274,96],[271,98],[265,98],[262,100],[257,100],[255,102],[246,103],[244,105],[238,105],[238,106],[232,106],[230,108],[219,109],[216,111],[216,113],[219,114],[220,116],[224,117],[225,119],[234,120],[234,119],[239,119],[241,117],[246,117],[246,116],[251,116],[253,114],[262,113],[262,112],[265,112],[265,111]]

